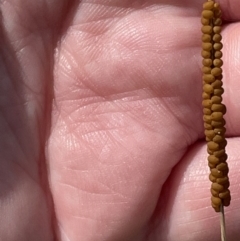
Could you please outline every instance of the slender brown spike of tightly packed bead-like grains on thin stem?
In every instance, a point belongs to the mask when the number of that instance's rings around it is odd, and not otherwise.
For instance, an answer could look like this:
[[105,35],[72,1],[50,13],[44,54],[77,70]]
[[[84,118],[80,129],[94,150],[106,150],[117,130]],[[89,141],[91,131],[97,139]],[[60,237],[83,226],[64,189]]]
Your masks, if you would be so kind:
[[227,154],[225,147],[226,129],[223,115],[226,107],[222,104],[222,43],[221,9],[214,0],[203,4],[202,11],[202,72],[203,72],[203,120],[208,147],[209,179],[212,182],[212,207],[220,212],[220,206],[228,206],[229,191]]

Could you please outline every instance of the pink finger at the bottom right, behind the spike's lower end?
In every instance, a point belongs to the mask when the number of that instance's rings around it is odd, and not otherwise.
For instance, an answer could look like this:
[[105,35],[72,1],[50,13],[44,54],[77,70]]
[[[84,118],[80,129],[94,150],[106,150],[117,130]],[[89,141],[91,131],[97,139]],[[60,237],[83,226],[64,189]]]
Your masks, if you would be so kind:
[[[229,240],[239,237],[240,218],[236,215],[240,212],[239,140],[229,139],[227,146],[232,195],[231,205],[225,208]],[[189,150],[165,183],[162,201],[155,213],[160,224],[153,231],[153,236],[168,241],[220,239],[220,216],[211,207],[208,176],[206,144],[198,143]]]

